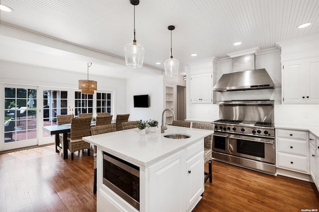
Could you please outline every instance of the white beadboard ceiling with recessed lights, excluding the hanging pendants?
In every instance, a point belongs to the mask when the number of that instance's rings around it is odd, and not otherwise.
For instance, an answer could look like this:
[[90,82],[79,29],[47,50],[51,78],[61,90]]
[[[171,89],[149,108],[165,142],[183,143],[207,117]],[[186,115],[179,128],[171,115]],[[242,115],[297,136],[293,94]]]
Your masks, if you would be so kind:
[[[124,46],[133,40],[133,5],[129,0],[0,3],[13,9],[0,12],[2,32],[3,26],[13,27],[58,41],[45,45],[30,42],[23,34],[18,39],[24,41],[19,41],[0,31],[1,60],[84,73],[86,63],[92,62],[90,73],[126,79],[145,74],[148,67],[163,69],[170,49],[168,25],[176,27],[172,48],[181,72],[187,62],[225,58],[228,53],[254,47],[269,49],[278,41],[319,33],[319,0],[140,0],[135,7],[136,39],[145,47],[145,68],[136,70],[123,66]],[[309,27],[296,27],[309,21]],[[233,46],[237,41],[243,44]],[[70,44],[84,47],[92,55],[61,47]],[[192,57],[192,53],[198,55]]]

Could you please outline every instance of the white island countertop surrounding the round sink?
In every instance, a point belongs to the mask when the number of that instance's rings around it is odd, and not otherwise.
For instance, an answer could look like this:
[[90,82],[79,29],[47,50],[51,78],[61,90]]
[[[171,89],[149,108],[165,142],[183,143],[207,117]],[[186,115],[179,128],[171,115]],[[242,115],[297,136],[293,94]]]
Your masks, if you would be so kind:
[[[170,139],[163,135],[181,133],[191,135],[186,139]],[[147,166],[168,154],[185,148],[186,146],[212,134],[211,130],[193,129],[167,125],[165,133],[160,133],[160,126],[156,132],[147,130],[146,135],[140,135],[139,129],[128,129],[83,137],[84,141],[101,147],[104,151],[114,154],[122,159],[134,161],[142,166]]]

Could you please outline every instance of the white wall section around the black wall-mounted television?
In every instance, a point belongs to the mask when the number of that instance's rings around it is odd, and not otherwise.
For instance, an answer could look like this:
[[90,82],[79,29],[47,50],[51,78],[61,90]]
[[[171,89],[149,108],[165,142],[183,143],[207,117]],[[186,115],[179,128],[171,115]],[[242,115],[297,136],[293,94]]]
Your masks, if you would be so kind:
[[[134,107],[134,95],[149,95],[150,107]],[[129,120],[161,121],[163,111],[163,76],[144,76],[127,80],[126,111],[130,113]]]

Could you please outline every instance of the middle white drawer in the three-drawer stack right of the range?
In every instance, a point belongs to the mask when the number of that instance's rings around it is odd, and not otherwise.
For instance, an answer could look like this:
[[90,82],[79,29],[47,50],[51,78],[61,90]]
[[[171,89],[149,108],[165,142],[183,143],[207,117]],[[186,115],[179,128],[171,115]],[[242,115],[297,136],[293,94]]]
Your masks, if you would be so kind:
[[287,138],[277,138],[278,151],[307,156],[307,140],[293,140]]

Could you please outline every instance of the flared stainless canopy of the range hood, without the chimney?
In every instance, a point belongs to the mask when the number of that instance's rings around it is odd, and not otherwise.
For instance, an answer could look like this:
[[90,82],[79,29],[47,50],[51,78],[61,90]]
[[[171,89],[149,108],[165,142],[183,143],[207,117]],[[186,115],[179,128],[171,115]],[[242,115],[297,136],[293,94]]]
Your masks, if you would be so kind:
[[274,82],[266,69],[256,69],[223,74],[213,91],[245,91],[256,89],[273,89]]

